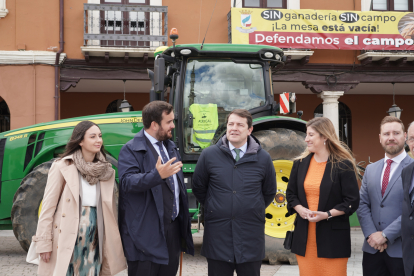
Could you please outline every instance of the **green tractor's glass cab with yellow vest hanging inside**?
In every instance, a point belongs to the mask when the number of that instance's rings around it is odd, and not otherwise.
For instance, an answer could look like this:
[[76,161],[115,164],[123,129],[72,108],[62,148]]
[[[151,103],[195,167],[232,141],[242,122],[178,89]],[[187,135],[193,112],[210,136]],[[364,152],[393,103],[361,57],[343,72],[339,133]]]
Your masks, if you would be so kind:
[[151,98],[164,99],[170,88],[184,161],[196,161],[217,142],[232,110],[247,109],[253,118],[275,114],[272,67],[282,60],[281,49],[262,45],[174,45],[156,54]]

